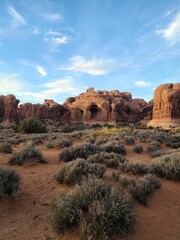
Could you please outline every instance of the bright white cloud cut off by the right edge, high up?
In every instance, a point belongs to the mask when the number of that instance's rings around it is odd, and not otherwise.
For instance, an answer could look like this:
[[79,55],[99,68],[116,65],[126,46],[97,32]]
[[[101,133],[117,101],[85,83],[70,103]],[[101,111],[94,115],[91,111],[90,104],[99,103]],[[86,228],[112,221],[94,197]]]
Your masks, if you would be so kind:
[[175,44],[180,41],[180,13],[174,20],[164,29],[156,31],[157,34],[162,35],[169,43]]

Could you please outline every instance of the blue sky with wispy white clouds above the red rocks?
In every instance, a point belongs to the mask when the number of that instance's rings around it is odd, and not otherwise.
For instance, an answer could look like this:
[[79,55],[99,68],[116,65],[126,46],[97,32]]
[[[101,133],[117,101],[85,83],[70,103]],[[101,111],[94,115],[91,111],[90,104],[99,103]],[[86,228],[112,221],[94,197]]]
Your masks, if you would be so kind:
[[88,87],[153,98],[180,82],[180,0],[0,0],[0,95],[63,103]]

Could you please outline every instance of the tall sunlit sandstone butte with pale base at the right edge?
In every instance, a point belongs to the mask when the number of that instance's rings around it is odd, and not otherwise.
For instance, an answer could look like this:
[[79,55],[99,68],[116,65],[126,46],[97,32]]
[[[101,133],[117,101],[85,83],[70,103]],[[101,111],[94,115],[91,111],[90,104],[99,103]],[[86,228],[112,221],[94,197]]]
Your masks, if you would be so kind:
[[160,85],[154,92],[150,126],[180,126],[180,83]]

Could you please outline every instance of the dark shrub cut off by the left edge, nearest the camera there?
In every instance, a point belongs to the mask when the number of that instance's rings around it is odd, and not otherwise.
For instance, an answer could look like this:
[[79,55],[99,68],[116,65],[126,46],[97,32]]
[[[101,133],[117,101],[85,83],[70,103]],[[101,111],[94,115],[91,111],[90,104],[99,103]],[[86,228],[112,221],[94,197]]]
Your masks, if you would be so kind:
[[11,168],[0,167],[0,196],[13,195],[20,187],[21,177]]

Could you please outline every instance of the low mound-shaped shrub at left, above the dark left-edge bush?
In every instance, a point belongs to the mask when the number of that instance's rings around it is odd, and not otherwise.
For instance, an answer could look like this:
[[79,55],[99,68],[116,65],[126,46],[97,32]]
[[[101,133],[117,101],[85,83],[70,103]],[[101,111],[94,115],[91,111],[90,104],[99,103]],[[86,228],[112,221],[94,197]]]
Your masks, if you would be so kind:
[[10,156],[9,163],[23,165],[30,159],[36,159],[40,162],[43,161],[42,153],[32,145],[27,144]]

